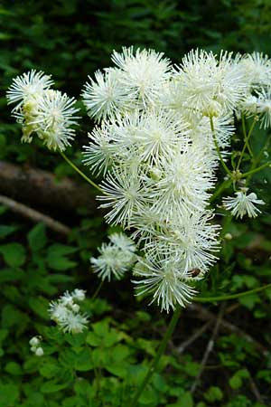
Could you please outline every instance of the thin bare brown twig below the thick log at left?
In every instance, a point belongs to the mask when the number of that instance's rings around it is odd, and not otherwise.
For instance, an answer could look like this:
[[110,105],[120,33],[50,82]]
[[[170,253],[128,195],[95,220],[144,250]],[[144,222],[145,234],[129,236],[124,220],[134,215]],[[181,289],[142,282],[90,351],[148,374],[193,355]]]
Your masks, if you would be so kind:
[[50,216],[40,213],[24,204],[20,204],[5,195],[0,195],[0,204],[4,204],[14,213],[20,213],[24,217],[31,219],[33,222],[44,222],[52,231],[64,234],[67,236],[70,233],[70,228],[61,222],[55,221]]

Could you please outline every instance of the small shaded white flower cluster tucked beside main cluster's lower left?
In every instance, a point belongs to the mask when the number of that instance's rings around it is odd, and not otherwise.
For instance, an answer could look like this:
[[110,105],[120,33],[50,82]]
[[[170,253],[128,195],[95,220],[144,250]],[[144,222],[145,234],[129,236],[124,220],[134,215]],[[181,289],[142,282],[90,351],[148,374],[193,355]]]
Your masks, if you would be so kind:
[[124,273],[135,264],[136,246],[132,239],[124,233],[113,233],[109,235],[110,242],[103,243],[98,249],[98,258],[91,257],[90,262],[98,277],[102,280],[114,276],[121,279]]

